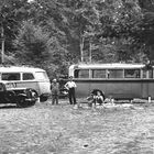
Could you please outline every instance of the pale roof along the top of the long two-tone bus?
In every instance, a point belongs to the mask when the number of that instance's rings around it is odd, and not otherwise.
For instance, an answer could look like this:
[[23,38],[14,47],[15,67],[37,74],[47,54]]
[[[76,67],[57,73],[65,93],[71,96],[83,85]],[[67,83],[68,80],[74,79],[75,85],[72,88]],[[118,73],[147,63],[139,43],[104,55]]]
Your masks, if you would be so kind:
[[99,68],[143,68],[144,64],[125,64],[125,63],[110,63],[110,64],[78,64],[72,65],[70,69],[99,69]]

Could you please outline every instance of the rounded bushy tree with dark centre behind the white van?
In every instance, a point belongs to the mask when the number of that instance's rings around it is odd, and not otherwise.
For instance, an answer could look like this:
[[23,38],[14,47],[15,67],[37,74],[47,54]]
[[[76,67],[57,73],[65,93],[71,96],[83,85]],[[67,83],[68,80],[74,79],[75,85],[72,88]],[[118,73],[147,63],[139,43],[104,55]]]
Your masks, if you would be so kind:
[[[56,69],[59,70],[59,67],[64,65],[65,50],[59,45],[57,38],[50,37],[50,33],[32,22],[23,23],[14,41],[14,46],[16,48],[15,57],[20,57],[19,64],[42,67],[52,73],[57,72]],[[48,74],[51,75],[51,73]],[[55,73],[52,76],[55,76]]]

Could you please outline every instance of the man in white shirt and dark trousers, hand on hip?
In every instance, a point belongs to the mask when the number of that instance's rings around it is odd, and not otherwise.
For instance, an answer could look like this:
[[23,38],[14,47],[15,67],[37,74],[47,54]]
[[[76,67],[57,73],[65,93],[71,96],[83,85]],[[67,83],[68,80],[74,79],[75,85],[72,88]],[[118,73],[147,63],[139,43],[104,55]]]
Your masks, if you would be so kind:
[[73,76],[69,77],[69,80],[65,84],[65,88],[68,90],[68,97],[69,97],[69,103],[76,105],[76,95],[75,95],[75,88],[76,88],[75,81],[73,81]]

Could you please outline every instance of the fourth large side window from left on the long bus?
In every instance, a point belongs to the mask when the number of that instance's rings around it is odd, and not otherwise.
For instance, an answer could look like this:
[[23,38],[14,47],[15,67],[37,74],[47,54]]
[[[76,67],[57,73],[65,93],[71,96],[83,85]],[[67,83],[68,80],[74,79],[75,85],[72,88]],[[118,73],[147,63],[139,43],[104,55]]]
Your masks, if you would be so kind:
[[124,70],[124,78],[140,78],[140,69],[125,69]]

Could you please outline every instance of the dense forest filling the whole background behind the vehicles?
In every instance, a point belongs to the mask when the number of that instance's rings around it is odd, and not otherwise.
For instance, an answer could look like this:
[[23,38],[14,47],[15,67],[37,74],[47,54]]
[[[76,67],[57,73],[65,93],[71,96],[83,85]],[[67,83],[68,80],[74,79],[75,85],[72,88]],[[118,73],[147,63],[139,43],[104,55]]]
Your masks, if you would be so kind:
[[0,0],[1,64],[50,78],[73,63],[154,59],[154,0]]

